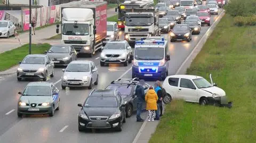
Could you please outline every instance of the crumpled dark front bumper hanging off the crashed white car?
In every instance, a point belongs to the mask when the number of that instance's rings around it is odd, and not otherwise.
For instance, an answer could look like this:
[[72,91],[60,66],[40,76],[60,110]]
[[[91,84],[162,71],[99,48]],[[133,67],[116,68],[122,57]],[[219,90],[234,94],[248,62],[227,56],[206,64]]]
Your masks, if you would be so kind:
[[220,96],[216,98],[207,97],[207,99],[209,100],[209,104],[214,106],[231,108],[233,105],[232,102],[228,102],[227,96]]

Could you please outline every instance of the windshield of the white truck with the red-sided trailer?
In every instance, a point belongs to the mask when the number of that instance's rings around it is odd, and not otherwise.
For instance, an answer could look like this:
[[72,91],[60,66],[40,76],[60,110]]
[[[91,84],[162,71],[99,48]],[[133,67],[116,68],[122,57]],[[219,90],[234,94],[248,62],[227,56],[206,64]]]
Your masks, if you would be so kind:
[[63,23],[63,35],[89,35],[89,24]]

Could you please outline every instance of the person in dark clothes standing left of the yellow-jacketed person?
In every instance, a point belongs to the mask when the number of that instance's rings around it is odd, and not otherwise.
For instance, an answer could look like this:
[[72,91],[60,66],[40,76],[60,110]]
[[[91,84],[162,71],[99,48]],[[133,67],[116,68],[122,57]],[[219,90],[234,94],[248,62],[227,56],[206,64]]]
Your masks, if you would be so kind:
[[[140,114],[142,110],[142,104],[145,102],[145,91],[143,88],[143,85],[145,84],[144,80],[140,80],[139,84],[137,85],[137,88],[135,89],[135,96],[138,98],[137,102],[137,122],[143,122],[144,120],[141,119]],[[134,98],[134,96],[133,96]]]

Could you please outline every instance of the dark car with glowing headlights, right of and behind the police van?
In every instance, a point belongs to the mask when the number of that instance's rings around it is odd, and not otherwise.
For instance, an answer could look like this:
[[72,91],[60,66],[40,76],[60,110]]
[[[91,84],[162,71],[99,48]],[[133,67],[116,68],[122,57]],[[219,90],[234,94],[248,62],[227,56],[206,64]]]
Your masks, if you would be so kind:
[[190,29],[188,24],[175,25],[170,35],[171,42],[182,40],[190,42],[192,40],[192,30]]

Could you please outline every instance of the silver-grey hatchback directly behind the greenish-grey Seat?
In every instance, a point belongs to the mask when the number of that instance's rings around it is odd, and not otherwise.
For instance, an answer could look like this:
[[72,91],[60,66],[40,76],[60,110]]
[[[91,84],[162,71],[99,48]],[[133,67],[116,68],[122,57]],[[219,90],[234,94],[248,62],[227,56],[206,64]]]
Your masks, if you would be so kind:
[[31,54],[27,55],[17,68],[17,79],[43,79],[47,80],[50,75],[54,76],[54,63],[48,55]]

